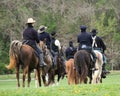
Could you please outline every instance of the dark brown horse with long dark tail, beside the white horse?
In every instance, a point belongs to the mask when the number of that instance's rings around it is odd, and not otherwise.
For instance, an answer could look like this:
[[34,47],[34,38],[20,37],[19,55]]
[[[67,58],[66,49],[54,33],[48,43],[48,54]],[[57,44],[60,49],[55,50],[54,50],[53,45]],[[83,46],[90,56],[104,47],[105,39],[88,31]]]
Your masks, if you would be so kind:
[[87,77],[92,80],[92,70],[90,62],[90,54],[86,50],[79,50],[75,53],[74,63],[76,68],[78,83],[87,83]]

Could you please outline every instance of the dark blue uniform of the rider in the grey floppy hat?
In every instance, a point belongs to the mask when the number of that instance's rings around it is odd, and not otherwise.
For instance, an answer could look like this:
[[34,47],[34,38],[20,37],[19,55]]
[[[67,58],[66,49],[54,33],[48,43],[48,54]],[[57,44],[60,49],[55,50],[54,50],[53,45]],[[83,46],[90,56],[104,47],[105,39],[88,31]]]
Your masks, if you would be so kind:
[[49,33],[47,32],[39,33],[39,40],[44,41],[45,39],[46,39],[47,48],[50,49],[51,38]]

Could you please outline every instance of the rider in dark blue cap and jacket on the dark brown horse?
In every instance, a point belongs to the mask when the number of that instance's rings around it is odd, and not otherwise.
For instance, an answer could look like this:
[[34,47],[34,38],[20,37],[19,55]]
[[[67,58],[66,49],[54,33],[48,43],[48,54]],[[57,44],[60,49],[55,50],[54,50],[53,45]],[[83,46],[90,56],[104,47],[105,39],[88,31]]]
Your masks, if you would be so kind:
[[80,26],[81,33],[78,35],[77,42],[79,43],[78,50],[86,49],[92,55],[92,70],[95,69],[96,55],[92,50],[92,37],[86,32],[87,27],[85,25]]

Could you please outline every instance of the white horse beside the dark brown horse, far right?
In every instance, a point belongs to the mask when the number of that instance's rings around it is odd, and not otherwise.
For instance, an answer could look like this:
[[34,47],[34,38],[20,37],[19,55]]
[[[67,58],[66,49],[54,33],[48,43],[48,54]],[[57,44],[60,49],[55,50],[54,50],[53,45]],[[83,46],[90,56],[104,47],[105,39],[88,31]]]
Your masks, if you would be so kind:
[[92,84],[101,83],[102,65],[103,65],[103,55],[100,51],[94,50],[97,59],[95,63],[96,70],[92,73]]

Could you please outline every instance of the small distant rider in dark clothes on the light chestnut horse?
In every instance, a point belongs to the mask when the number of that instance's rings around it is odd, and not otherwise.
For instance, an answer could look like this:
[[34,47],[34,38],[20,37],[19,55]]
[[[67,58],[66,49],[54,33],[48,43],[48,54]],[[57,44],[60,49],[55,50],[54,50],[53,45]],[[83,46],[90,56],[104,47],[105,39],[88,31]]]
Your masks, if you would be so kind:
[[69,47],[65,50],[66,60],[73,59],[77,48],[74,47],[73,41],[69,41]]

